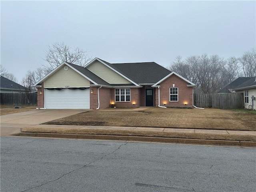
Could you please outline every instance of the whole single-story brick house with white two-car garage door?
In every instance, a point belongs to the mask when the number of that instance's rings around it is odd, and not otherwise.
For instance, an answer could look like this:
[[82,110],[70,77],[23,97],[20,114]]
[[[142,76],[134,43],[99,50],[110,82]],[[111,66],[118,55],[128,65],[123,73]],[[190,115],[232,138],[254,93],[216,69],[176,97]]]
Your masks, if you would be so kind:
[[155,62],[111,64],[94,58],[85,67],[63,62],[39,80],[38,107],[193,107],[195,84]]

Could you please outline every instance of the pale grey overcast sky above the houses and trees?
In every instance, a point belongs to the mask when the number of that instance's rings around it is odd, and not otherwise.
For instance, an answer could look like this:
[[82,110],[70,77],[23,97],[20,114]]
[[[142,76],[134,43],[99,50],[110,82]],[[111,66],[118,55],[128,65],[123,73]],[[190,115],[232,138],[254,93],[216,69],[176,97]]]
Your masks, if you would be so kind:
[[256,1],[1,1],[1,64],[22,80],[64,42],[110,63],[242,56],[256,47]]

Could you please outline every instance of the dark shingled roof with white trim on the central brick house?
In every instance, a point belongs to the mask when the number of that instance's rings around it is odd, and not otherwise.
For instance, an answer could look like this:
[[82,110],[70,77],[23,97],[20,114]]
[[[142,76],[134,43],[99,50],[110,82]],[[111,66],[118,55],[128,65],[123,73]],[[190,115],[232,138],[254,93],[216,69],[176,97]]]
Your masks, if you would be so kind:
[[[120,76],[124,77],[126,80],[130,81],[130,84],[109,84],[93,72],[87,69],[88,66],[93,64],[95,61],[99,61]],[[90,61],[86,66],[78,66],[69,62],[63,62],[58,67],[56,67],[54,70],[52,70],[49,74],[44,76],[42,79],[40,79],[34,86],[38,86],[41,82],[46,80],[49,76],[51,76],[58,68],[66,64],[76,72],[78,72],[80,75],[84,76],[84,78],[88,79],[92,84],[94,85],[102,85],[102,86],[110,86],[110,87],[120,87],[120,86],[136,86],[136,87],[142,87],[142,85],[156,85],[172,74],[175,74],[182,80],[188,82],[187,86],[196,86],[194,83],[190,82],[189,80],[185,79],[184,77],[180,76],[179,74],[176,74],[175,72],[171,72],[170,70],[164,68],[163,66],[160,66],[159,64],[155,62],[137,62],[137,63],[114,63],[111,64],[109,62],[106,62],[100,58],[94,58],[92,61]],[[157,83],[156,83],[157,82]],[[93,85],[91,85],[93,86]]]

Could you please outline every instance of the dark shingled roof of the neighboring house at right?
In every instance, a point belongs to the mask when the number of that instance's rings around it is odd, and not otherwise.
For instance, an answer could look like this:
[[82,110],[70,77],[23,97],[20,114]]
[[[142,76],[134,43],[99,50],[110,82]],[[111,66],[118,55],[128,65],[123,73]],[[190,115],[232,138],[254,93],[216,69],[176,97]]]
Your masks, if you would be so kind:
[[[230,93],[235,89],[240,89],[243,87],[247,87],[253,85],[255,81],[255,77],[238,77],[236,80],[232,81],[230,84],[224,86],[218,93]],[[254,84],[256,85],[256,83]]]

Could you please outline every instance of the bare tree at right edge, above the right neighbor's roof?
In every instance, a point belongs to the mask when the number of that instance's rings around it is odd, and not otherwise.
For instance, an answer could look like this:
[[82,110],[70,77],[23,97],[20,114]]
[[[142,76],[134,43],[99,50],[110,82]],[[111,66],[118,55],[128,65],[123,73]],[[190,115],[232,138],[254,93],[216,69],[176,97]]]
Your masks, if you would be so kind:
[[256,48],[244,52],[239,58],[243,73],[246,77],[252,77],[256,73]]

